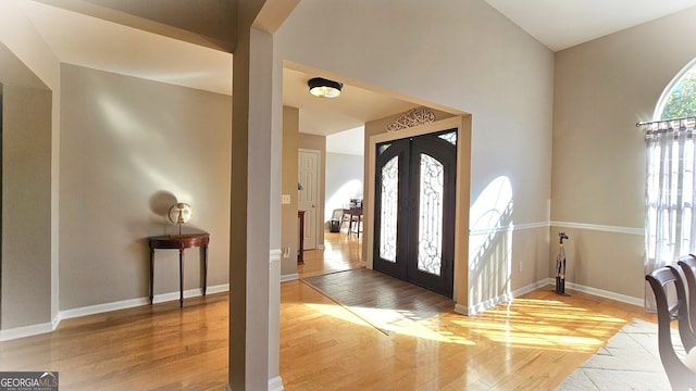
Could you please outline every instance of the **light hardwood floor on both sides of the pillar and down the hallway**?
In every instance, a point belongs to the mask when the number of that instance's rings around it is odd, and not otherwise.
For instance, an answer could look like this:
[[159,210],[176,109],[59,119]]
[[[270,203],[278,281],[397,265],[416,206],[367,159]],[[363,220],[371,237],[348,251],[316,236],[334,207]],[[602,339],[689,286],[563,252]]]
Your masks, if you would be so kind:
[[[327,234],[303,276],[361,267],[360,241]],[[337,253],[352,254],[348,257]],[[323,266],[320,266],[323,264]],[[385,335],[301,280],[281,288],[286,390],[552,390],[643,308],[549,287],[465,317],[439,313]],[[66,319],[0,342],[0,370],[59,370],[61,390],[224,390],[227,297]]]

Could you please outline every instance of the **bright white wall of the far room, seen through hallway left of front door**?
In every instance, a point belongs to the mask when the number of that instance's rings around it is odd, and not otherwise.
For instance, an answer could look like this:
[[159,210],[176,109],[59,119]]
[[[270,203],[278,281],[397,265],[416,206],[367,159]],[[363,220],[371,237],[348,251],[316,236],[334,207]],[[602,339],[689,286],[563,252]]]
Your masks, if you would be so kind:
[[331,220],[335,209],[347,206],[351,198],[362,199],[363,165],[361,155],[326,152],[324,223]]

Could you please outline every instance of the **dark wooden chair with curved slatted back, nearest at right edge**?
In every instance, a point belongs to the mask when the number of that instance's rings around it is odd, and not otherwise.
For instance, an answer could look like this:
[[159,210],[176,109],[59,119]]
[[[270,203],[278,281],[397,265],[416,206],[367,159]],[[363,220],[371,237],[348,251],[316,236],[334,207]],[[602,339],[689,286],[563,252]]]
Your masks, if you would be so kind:
[[[645,279],[650,283],[655,293],[660,360],[670,384],[673,390],[696,389],[696,371],[684,365],[672,344],[671,324],[673,320],[676,320],[680,326],[680,337],[686,351],[693,348],[693,344],[687,348],[687,343],[694,342],[689,341],[689,336],[693,338],[691,328],[688,328],[688,333],[682,332],[682,325],[688,326],[688,312],[684,282],[679,269],[670,266],[660,267],[645,276]],[[675,300],[673,299],[674,291],[676,292]]]

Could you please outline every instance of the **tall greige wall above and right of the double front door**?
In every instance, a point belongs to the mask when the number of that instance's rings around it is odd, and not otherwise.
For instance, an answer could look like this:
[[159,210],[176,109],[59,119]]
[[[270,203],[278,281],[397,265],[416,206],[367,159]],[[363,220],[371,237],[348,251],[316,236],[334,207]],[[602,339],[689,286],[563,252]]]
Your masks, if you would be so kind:
[[[514,207],[502,228],[515,227],[512,243],[525,230],[532,234],[524,240],[547,241],[554,54],[508,18],[483,0],[304,0],[277,41],[285,60],[346,83],[472,113],[471,202],[496,178],[508,178]],[[547,265],[548,247],[509,249],[502,262],[523,267],[506,268],[500,288],[535,281],[538,272],[531,270]],[[495,262],[495,254],[480,260]]]

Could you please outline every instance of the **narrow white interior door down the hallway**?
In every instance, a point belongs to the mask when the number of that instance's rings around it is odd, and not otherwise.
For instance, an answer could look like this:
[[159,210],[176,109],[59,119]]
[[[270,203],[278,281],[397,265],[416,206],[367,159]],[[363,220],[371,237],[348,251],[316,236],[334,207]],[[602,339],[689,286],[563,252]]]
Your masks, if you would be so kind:
[[321,152],[316,150],[298,150],[298,209],[304,211],[304,250],[316,249],[316,229],[319,227],[319,165]]

